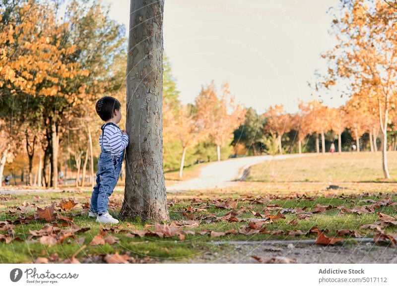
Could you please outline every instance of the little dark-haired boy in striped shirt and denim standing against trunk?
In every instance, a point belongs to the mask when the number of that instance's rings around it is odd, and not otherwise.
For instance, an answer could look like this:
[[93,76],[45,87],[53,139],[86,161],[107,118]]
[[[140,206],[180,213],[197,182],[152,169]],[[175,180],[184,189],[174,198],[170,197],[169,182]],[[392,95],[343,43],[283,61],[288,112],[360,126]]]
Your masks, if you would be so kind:
[[110,96],[102,97],[95,105],[96,113],[105,123],[101,126],[102,134],[99,136],[101,154],[88,216],[96,217],[99,223],[119,223],[108,213],[108,202],[119,180],[124,149],[129,142],[127,132],[116,125],[121,119],[120,108],[120,102]]

